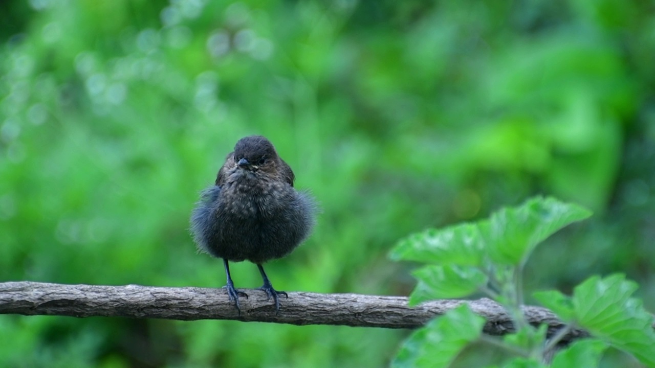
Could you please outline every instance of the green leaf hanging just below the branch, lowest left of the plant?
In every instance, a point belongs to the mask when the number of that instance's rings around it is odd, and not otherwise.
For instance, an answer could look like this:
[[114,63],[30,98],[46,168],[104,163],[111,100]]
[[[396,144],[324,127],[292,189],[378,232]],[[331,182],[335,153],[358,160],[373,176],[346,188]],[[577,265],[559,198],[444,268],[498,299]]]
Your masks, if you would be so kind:
[[415,331],[400,348],[392,367],[448,367],[464,347],[480,336],[485,319],[462,304]]

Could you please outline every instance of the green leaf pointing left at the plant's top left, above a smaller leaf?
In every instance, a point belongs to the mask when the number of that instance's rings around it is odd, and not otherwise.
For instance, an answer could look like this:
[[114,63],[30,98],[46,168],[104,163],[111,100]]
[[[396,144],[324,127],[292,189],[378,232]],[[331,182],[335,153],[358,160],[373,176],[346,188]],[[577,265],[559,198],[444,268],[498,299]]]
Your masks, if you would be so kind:
[[483,239],[476,224],[464,223],[413,234],[392,249],[391,259],[435,265],[477,266],[483,259]]

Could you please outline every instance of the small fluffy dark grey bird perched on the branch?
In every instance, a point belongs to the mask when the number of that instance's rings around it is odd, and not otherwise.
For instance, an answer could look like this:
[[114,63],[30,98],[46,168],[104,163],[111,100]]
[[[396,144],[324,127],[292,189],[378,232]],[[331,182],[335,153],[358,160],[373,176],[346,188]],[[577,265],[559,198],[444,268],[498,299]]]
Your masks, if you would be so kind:
[[293,188],[295,176],[278,156],[272,143],[262,136],[240,139],[225,158],[215,185],[201,193],[191,213],[191,232],[200,251],[222,258],[227,274],[227,295],[240,314],[229,261],[257,265],[268,299],[280,310],[280,295],[273,289],[263,263],[285,257],[309,236],[314,226],[316,204],[312,196]]

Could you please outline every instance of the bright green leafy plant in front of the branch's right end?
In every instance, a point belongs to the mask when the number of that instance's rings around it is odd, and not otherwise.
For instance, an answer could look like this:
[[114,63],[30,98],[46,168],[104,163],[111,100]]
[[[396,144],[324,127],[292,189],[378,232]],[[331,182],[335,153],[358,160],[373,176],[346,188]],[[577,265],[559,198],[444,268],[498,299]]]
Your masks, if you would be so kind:
[[575,287],[571,297],[559,291],[534,293],[567,323],[552,336],[546,326],[527,323],[521,312],[522,271],[529,255],[557,230],[590,215],[580,206],[537,197],[476,223],[430,229],[402,240],[390,257],[426,264],[413,272],[418,284],[410,304],[485,293],[510,312],[515,332],[502,339],[481,335],[484,319],[462,304],[415,331],[394,367],[449,367],[480,339],[511,353],[502,367],[546,367],[546,356],[571,327],[586,329],[591,337],[557,351],[551,367],[595,367],[610,346],[655,367],[653,316],[631,297],[637,285],[622,274],[593,276]]

